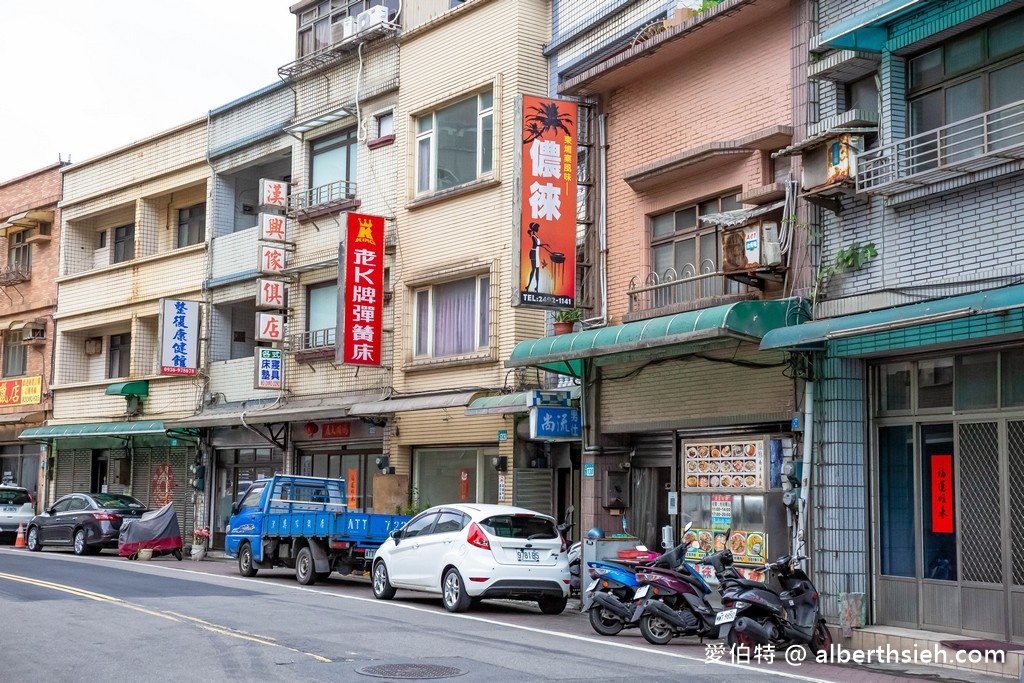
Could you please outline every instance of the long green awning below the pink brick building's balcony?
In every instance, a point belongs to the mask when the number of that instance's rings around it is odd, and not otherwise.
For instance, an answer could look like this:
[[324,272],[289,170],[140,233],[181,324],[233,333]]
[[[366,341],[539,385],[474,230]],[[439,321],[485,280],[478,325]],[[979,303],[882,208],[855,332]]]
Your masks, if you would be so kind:
[[536,367],[582,377],[584,358],[630,362],[696,353],[737,339],[756,342],[771,330],[795,325],[803,307],[803,301],[797,298],[737,301],[597,330],[529,339],[512,349],[505,366]]

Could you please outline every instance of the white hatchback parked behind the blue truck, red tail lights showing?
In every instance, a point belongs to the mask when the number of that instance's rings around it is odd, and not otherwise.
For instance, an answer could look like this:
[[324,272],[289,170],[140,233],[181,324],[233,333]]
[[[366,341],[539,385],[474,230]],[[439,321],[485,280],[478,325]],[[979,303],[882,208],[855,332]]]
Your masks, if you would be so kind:
[[569,565],[555,519],[508,505],[460,503],[421,512],[377,551],[374,596],[396,589],[440,593],[465,611],[484,598],[536,600],[545,614],[565,609]]

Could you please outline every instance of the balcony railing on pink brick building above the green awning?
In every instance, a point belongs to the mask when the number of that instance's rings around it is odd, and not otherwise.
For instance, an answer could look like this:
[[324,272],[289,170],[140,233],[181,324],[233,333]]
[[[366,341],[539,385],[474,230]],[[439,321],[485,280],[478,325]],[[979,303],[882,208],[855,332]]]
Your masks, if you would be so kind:
[[640,284],[636,278],[630,283],[630,313],[645,310],[685,310],[716,297],[739,295],[743,286],[728,280],[714,261],[705,260],[700,272],[692,264],[683,266],[678,273],[669,268],[664,273],[652,272]]

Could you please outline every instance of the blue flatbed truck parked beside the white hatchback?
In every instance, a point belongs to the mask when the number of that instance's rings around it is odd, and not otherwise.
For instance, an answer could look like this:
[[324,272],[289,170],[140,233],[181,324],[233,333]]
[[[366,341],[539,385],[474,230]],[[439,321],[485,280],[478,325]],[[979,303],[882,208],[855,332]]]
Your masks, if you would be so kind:
[[278,474],[257,479],[231,506],[224,550],[239,573],[289,567],[303,586],[369,570],[374,554],[411,517],[353,512],[344,479]]

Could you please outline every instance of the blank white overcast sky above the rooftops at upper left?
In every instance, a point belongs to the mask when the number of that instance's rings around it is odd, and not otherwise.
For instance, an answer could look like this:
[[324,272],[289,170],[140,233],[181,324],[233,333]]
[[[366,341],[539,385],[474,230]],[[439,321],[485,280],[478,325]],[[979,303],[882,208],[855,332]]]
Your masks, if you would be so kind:
[[0,182],[278,82],[295,0],[0,0]]

